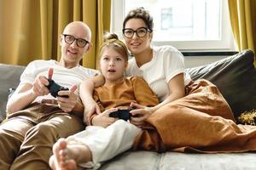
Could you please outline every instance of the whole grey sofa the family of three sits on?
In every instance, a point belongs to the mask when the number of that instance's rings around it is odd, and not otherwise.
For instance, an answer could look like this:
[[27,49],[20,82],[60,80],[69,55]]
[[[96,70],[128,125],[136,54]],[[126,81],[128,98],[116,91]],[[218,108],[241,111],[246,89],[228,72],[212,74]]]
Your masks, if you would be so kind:
[[[237,119],[241,113],[256,109],[256,69],[253,61],[253,51],[247,49],[212,64],[188,68],[186,71],[193,80],[205,78],[217,85]],[[20,74],[24,69],[24,66],[0,64],[0,122],[5,116],[9,88],[17,87]],[[256,154],[255,152],[218,154],[156,153],[129,150],[105,162],[100,169],[254,170],[256,169]]]

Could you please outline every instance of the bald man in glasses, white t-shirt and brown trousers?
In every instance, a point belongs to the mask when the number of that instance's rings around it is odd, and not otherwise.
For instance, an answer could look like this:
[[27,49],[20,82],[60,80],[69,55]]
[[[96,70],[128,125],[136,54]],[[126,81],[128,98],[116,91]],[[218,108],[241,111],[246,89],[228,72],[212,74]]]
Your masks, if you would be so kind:
[[[26,66],[20,84],[7,104],[7,119],[0,126],[0,169],[49,169],[57,139],[84,129],[84,107],[79,83],[97,71],[79,61],[92,47],[90,28],[80,21],[68,24],[60,37],[61,60],[35,60]],[[62,87],[49,93],[49,79]]]

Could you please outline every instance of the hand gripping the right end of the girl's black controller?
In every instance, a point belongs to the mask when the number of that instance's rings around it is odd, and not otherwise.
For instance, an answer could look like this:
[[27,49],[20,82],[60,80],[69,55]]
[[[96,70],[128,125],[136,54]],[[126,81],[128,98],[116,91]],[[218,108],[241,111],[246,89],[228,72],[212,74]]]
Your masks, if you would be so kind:
[[152,108],[150,107],[146,107],[143,105],[138,105],[135,103],[131,103],[131,108],[135,107],[137,109],[130,111],[131,113],[131,120],[130,122],[132,124],[134,124],[137,127],[142,127],[143,126],[143,122],[145,121],[145,119],[148,118],[148,116],[152,115],[152,113],[154,112],[152,110]]

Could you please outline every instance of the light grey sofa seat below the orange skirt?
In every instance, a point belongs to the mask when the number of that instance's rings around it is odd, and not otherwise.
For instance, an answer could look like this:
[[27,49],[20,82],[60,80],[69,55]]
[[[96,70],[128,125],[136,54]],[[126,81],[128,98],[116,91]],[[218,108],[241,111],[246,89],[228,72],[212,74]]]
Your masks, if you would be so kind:
[[101,170],[230,170],[256,168],[255,153],[155,153],[150,151],[128,151],[114,157]]

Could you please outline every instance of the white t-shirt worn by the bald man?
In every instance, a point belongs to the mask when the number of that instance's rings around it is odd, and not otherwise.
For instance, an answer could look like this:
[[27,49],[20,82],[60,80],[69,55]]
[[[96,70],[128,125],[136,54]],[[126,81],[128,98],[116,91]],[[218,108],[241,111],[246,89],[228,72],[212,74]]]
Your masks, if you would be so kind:
[[[38,76],[48,77],[49,68],[54,69],[52,79],[65,88],[71,88],[73,85],[79,86],[80,82],[87,78],[94,77],[98,73],[96,70],[84,68],[81,65],[67,69],[59,65],[59,63],[53,59],[38,59],[32,61],[26,66],[25,71],[23,71],[20,76],[20,84],[32,84]],[[38,96],[34,102],[40,102],[42,99],[54,99],[54,97],[50,94]]]

